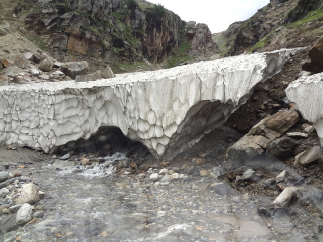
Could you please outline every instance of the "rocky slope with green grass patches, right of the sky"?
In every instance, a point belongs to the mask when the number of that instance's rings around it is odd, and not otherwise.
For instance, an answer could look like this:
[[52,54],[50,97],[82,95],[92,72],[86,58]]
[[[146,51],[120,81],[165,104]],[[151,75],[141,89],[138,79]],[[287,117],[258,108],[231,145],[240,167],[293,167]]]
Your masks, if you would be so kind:
[[[250,19],[221,34],[222,56],[314,44],[323,34],[322,1],[272,0]],[[219,36],[214,38],[219,39]]]

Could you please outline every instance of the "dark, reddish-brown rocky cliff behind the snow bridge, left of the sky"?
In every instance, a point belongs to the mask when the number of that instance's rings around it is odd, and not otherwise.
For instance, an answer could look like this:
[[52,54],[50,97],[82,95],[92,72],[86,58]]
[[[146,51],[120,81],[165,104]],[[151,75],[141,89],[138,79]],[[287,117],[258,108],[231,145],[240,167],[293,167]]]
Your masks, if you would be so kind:
[[187,27],[175,13],[145,0],[9,2],[5,15],[15,11],[26,34],[41,38],[62,62],[83,59],[95,67],[147,59],[156,64],[186,42],[192,43],[194,58],[217,52],[207,25]]

